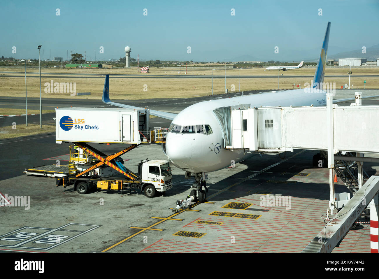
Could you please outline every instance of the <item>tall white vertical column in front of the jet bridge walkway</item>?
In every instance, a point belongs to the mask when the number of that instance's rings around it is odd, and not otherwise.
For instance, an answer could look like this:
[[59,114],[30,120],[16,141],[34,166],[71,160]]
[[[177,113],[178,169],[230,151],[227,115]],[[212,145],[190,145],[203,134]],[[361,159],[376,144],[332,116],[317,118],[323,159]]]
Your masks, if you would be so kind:
[[329,193],[330,193],[330,203],[327,210],[333,215],[333,210],[335,209],[335,198],[334,198],[334,127],[333,127],[333,95],[332,93],[326,94],[326,113],[327,113],[327,142],[328,142],[328,169],[329,169]]

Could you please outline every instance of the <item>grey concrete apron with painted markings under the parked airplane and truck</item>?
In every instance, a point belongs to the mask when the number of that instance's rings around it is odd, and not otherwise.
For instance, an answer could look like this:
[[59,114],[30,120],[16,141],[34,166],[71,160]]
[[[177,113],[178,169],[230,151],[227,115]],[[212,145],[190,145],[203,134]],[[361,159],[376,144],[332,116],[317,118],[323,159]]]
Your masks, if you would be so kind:
[[[337,90],[336,98],[347,97],[354,97],[354,90]],[[180,111],[193,102],[171,100],[161,107]],[[162,122],[150,120],[157,122],[151,126]],[[173,187],[153,198],[139,191],[81,195],[72,187],[63,193],[55,179],[22,173],[34,166],[67,165],[68,146],[56,144],[55,133],[0,141],[0,192],[18,205],[5,206],[2,201],[0,252],[301,252],[325,226],[320,216],[328,207],[328,170],[312,166],[312,150],[295,149],[284,159],[254,154],[234,167],[212,172],[207,202],[175,213],[175,202],[189,194],[193,181],[174,166]],[[94,147],[106,154],[125,148]],[[167,160],[159,144],[143,144],[122,158],[132,171],[137,171],[139,160]],[[372,176],[379,165],[364,163],[363,168]],[[335,192],[347,192],[339,179]],[[333,252],[370,252],[370,224],[350,230]]]

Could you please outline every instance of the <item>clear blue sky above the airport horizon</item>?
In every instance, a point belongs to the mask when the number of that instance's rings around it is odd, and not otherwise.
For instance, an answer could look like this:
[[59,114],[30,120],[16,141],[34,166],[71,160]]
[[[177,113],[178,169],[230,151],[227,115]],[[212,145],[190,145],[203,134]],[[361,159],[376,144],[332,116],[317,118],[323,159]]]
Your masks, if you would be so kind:
[[38,58],[41,44],[45,59],[50,50],[64,59],[75,50],[108,60],[123,57],[129,45],[131,57],[142,60],[302,60],[319,56],[328,21],[329,53],[379,43],[377,0],[7,1],[0,13],[0,55],[16,58]]

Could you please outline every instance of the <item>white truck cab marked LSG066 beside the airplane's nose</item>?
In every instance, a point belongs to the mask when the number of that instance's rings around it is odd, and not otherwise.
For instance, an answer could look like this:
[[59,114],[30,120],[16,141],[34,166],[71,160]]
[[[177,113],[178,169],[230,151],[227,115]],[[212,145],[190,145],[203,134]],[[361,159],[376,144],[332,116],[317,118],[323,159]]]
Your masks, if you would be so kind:
[[153,197],[155,191],[164,192],[172,187],[171,166],[167,160],[141,160],[138,164],[138,175],[141,177],[147,197]]

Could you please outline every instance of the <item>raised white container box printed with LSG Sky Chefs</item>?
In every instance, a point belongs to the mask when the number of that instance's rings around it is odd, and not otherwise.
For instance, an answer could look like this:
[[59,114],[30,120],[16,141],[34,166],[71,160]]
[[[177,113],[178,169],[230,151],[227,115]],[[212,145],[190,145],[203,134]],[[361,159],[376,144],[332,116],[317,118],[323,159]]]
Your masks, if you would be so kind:
[[127,108],[56,108],[56,143],[130,143],[146,138],[149,110]]

